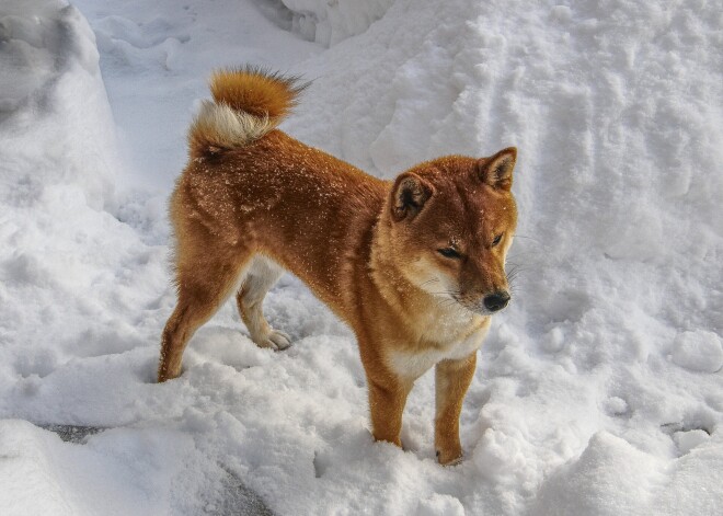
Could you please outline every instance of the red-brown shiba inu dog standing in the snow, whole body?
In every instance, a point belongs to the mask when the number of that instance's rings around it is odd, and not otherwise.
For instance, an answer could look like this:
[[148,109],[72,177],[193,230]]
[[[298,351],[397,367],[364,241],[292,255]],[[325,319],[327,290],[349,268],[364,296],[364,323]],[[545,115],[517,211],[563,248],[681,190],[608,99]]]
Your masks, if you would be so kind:
[[179,301],[158,381],[179,376],[186,343],[232,294],[259,346],[289,346],[262,301],[290,271],[356,333],[376,439],[401,446],[406,397],[435,367],[435,447],[455,463],[477,351],[510,298],[516,149],[381,181],[275,128],[296,80],[244,68],[215,73],[210,89],[170,202]]

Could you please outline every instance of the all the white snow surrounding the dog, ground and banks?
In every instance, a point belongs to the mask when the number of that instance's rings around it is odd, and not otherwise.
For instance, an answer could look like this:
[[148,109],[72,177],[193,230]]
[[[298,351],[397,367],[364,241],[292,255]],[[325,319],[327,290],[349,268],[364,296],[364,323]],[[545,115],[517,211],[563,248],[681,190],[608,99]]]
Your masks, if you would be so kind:
[[[0,5],[2,514],[236,514],[229,474],[279,515],[715,514],[723,2],[357,4],[330,48],[278,2],[81,0],[92,32]],[[313,79],[285,129],[380,176],[518,146],[519,272],[462,465],[435,462],[429,375],[406,450],[372,443],[354,337],[291,277],[266,300],[288,352],[229,305],[153,383],[164,199],[205,78],[246,61]]]

